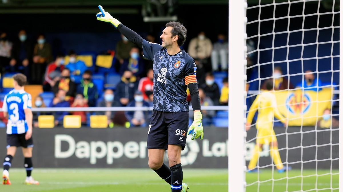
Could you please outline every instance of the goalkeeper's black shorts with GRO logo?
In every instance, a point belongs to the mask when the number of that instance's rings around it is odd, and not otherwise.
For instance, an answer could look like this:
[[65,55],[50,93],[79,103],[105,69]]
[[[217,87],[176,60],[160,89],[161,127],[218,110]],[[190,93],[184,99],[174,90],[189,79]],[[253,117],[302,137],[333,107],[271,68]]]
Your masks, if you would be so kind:
[[185,149],[189,112],[152,111],[147,149],[168,149],[168,145],[180,145]]

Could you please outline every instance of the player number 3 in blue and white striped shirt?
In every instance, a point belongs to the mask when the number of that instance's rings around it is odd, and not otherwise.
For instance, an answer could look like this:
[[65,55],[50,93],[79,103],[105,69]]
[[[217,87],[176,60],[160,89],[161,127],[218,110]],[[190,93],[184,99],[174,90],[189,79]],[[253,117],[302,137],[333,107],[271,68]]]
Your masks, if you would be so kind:
[[7,123],[7,155],[3,161],[2,184],[10,185],[9,169],[17,147],[23,148],[25,184],[39,184],[31,176],[32,166],[32,99],[24,91],[26,76],[18,73],[13,76],[14,89],[5,95],[2,110]]

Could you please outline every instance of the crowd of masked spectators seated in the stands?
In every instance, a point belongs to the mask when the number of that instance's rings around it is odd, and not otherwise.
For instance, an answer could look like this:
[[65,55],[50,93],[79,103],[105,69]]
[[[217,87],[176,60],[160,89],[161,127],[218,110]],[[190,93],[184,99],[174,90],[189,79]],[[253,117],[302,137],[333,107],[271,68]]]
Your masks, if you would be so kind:
[[[7,38],[7,33],[0,33],[0,72],[2,74],[21,72],[28,77],[30,84],[43,85],[45,92],[54,93],[55,97],[49,106],[44,105],[44,98],[41,96],[34,98],[35,107],[152,106],[154,74],[152,63],[144,59],[142,50],[128,41],[126,37],[121,36],[121,40],[116,44],[116,62],[111,68],[114,73],[120,75],[121,79],[115,88],[105,88],[102,94],[99,93],[92,80],[92,75],[96,73],[97,69],[90,70],[82,60],[78,59],[75,51],[70,50],[68,55],[59,53],[53,57],[51,45],[46,41],[44,35],[37,36],[36,42],[33,44],[27,37],[26,31],[20,30],[17,39],[12,42]],[[151,34],[147,35],[146,39],[155,42],[155,37]],[[248,51],[255,49],[252,41],[247,42],[247,46]],[[228,105],[228,78],[224,77],[219,86],[213,75],[213,72],[228,70],[226,35],[218,34],[217,41],[212,43],[206,37],[205,32],[201,31],[197,37],[190,39],[187,52],[197,64],[201,105]],[[248,55],[247,59],[248,66],[253,65],[253,54]],[[317,91],[321,82],[314,73],[310,70],[306,71],[304,81],[297,84],[296,87]],[[294,88],[281,67],[274,67],[271,78],[274,80],[275,90]],[[261,88],[264,89],[265,84],[262,84]],[[99,95],[102,97],[99,98]],[[188,97],[188,101],[190,101],[190,97]],[[1,102],[0,105],[2,105]],[[39,114],[36,113],[36,115]],[[56,112],[54,114],[55,124],[60,125],[66,114],[68,112]],[[87,122],[86,112],[70,114],[78,114],[83,123]],[[125,113],[104,111],[98,112],[98,114],[107,115],[109,125],[118,122],[122,124],[120,122],[126,122],[122,119],[126,119],[131,126],[146,126],[150,116],[148,112],[143,111]],[[211,125],[214,116],[215,111],[203,111],[204,124]],[[34,123],[37,126],[37,122]]]

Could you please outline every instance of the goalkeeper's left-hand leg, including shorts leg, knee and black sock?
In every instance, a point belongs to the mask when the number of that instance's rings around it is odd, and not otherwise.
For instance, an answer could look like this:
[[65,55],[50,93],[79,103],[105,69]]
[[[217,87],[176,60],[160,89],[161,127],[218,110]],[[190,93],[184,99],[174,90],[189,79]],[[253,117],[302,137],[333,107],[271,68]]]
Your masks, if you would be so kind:
[[159,177],[170,184],[170,168],[163,163],[164,151],[167,149],[168,142],[164,112],[153,110],[150,123],[147,138],[148,164]]

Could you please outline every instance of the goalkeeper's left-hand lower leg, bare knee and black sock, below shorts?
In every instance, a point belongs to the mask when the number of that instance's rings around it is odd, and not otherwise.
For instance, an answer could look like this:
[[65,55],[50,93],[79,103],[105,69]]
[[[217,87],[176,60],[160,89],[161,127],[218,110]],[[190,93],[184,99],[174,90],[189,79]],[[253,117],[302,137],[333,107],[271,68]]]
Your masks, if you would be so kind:
[[164,149],[148,149],[149,167],[157,173],[159,177],[170,182],[170,168],[163,163]]

